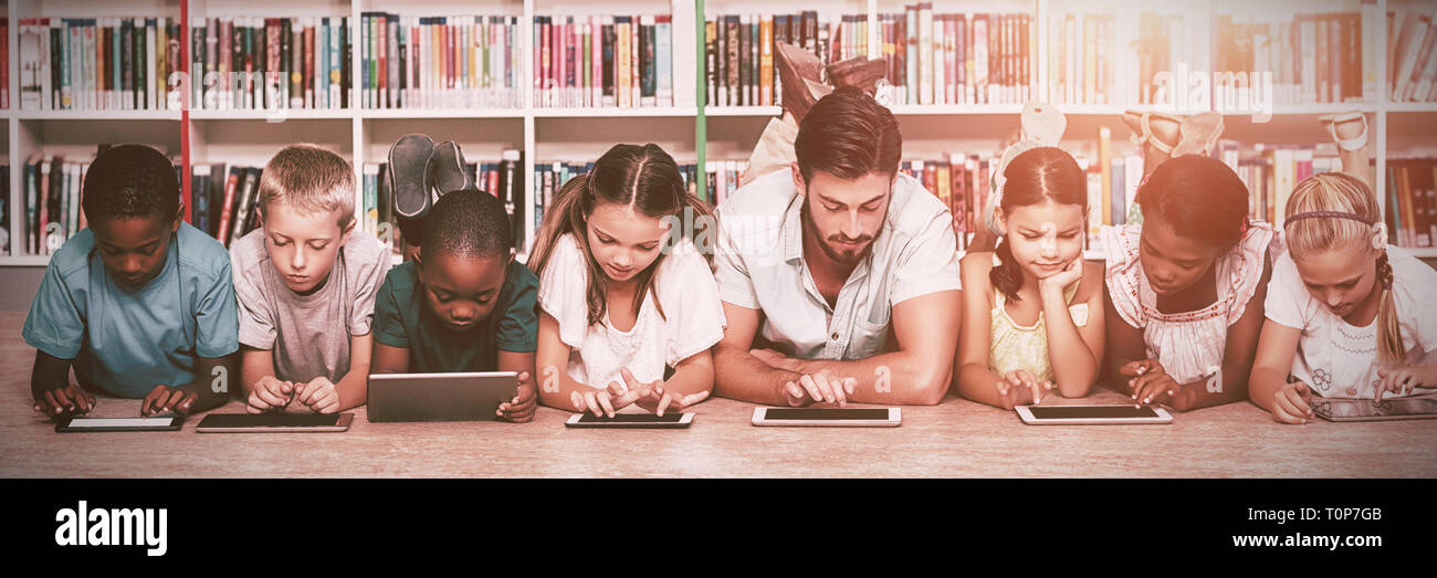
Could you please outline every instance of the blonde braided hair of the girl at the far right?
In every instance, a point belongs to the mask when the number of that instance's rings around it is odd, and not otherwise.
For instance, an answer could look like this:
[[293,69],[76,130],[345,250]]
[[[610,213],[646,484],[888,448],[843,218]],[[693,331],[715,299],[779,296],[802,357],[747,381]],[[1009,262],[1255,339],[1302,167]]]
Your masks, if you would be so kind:
[[[1338,213],[1292,220],[1303,213]],[[1377,349],[1384,362],[1404,358],[1403,328],[1392,302],[1392,266],[1387,250],[1378,249],[1374,236],[1382,230],[1382,213],[1377,196],[1367,183],[1345,173],[1319,173],[1292,190],[1285,210],[1289,221],[1283,226],[1288,250],[1293,259],[1315,257],[1329,250],[1367,249],[1380,252],[1377,282],[1382,286],[1382,301],[1377,311]],[[1354,219],[1355,217],[1355,219]],[[1380,243],[1385,244],[1385,239]]]

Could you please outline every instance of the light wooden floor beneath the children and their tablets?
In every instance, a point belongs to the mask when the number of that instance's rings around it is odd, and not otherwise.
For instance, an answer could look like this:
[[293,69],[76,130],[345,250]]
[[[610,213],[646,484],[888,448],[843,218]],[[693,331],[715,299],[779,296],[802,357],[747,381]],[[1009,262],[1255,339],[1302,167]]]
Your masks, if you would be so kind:
[[[348,433],[57,434],[30,405],[34,349],[23,313],[0,313],[4,477],[1434,477],[1437,420],[1280,426],[1252,404],[1178,414],[1170,426],[1025,426],[1012,411],[947,398],[905,407],[897,428],[753,427],[753,405],[710,400],[688,430],[529,424],[371,424]],[[1119,403],[1114,393],[1063,403]],[[93,416],[138,416],[99,400]],[[217,410],[240,413],[239,403]]]

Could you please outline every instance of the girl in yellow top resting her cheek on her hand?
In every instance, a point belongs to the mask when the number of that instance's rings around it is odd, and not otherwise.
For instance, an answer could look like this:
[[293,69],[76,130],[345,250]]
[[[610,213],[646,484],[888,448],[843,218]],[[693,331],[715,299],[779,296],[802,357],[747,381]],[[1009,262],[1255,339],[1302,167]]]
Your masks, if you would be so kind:
[[1088,180],[1055,147],[1027,150],[1002,173],[994,253],[961,260],[958,394],[1012,410],[1058,390],[1088,394],[1102,359],[1102,266],[1083,263]]

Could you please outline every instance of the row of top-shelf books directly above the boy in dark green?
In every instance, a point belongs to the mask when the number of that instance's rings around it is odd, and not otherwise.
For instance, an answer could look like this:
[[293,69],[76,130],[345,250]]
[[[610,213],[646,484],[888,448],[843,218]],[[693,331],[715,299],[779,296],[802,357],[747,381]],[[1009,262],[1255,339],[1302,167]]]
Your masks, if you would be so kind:
[[359,22],[365,108],[520,108],[517,16],[399,16]]

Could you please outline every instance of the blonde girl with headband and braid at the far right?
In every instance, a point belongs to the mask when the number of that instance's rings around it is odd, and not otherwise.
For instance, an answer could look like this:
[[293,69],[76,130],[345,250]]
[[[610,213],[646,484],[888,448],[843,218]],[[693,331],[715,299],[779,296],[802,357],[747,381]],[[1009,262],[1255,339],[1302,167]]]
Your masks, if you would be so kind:
[[1437,272],[1387,244],[1377,197],[1357,177],[1298,184],[1273,266],[1249,394],[1282,423],[1312,395],[1371,398],[1437,387]]

